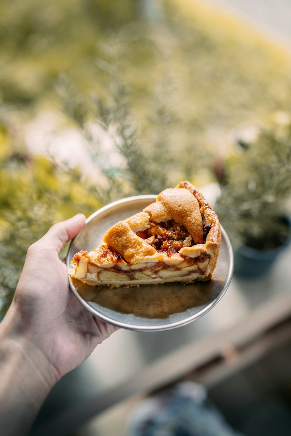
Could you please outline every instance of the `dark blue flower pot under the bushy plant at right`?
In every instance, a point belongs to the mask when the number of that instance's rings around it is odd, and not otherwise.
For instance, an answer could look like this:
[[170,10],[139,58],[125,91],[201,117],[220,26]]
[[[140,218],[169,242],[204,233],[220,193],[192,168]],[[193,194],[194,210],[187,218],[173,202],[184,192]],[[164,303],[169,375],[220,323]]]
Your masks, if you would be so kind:
[[289,245],[290,238],[283,245],[272,250],[259,250],[246,245],[237,249],[234,260],[234,272],[239,276],[260,277],[272,267],[277,256]]

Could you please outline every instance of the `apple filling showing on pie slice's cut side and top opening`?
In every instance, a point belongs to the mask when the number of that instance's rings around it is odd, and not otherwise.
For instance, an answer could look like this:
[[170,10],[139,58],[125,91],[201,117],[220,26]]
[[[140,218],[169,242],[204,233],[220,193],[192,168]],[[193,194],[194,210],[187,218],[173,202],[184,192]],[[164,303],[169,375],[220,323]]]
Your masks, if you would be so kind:
[[71,275],[88,284],[130,285],[134,283],[164,283],[173,281],[192,282],[197,277],[209,274],[210,255],[202,253],[198,257],[182,256],[178,252],[183,247],[194,245],[187,229],[175,220],[156,223],[149,221],[149,227],[137,236],[154,247],[157,253],[164,253],[163,261],[148,259],[137,263],[128,263],[112,247],[101,245],[92,256],[81,251],[73,257]]

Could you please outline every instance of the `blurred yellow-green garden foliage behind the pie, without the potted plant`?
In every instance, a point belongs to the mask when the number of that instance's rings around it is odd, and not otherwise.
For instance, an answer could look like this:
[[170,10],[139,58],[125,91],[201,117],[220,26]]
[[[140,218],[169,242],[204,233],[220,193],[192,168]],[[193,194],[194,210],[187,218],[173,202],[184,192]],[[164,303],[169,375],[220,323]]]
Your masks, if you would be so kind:
[[[198,185],[214,180],[213,160],[226,152],[229,129],[289,110],[290,73],[291,57],[283,49],[195,0],[2,0],[3,311],[27,247],[53,222],[89,215],[123,196],[159,192],[180,179]],[[59,114],[61,106],[66,125],[73,120],[86,139],[98,182],[81,167],[31,156],[12,132],[41,111]],[[92,124],[111,138],[122,164],[106,162]],[[273,140],[261,140],[262,153],[252,159],[262,159]],[[254,150],[243,155],[245,167]],[[245,167],[233,164],[235,174]],[[228,177],[243,202],[231,170]]]

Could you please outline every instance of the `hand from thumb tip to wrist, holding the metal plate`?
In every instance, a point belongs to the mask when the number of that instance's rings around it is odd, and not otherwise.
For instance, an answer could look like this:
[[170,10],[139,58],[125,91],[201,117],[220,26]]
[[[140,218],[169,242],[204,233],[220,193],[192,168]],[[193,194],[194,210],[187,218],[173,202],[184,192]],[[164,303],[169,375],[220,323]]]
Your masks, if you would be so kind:
[[75,215],[53,225],[27,251],[10,307],[15,328],[48,360],[52,377],[62,377],[81,364],[115,327],[99,320],[75,298],[68,271],[58,253],[83,227]]

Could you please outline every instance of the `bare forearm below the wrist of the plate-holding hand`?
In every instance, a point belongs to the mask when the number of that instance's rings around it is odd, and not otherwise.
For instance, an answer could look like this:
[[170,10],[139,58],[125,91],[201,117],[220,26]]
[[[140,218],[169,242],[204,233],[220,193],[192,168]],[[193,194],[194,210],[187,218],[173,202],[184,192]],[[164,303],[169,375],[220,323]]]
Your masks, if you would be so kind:
[[25,435],[54,381],[29,338],[14,329],[10,312],[0,324],[0,434]]

